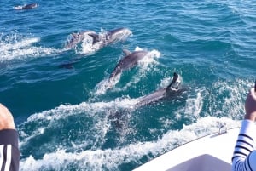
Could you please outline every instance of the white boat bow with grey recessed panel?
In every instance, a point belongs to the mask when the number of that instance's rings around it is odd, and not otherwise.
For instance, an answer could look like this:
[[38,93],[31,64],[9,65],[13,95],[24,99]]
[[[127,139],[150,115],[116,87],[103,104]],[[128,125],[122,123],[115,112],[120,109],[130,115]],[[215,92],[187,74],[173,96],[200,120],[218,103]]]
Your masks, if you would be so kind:
[[240,128],[210,134],[154,158],[133,171],[230,171]]

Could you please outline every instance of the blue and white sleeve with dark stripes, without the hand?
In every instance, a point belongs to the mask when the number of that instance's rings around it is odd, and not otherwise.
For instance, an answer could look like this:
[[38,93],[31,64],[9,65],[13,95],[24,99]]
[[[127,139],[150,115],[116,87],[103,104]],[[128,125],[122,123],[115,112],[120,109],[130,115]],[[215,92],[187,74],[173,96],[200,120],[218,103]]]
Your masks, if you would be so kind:
[[232,157],[232,171],[256,171],[255,137],[255,123],[243,120]]

